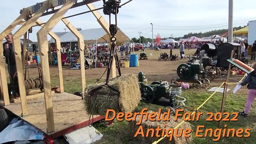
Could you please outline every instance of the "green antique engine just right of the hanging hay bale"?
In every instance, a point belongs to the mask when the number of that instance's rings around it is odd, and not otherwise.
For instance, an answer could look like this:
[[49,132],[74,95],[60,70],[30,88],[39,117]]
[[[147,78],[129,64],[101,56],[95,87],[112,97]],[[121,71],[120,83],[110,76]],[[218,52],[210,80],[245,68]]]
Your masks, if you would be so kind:
[[172,92],[171,86],[167,82],[155,81],[150,85],[145,85],[143,83],[145,76],[143,76],[142,72],[139,73],[138,77],[141,92],[141,101],[169,107],[172,109],[172,113],[175,113],[175,109],[185,106],[184,102],[186,101],[186,99]]

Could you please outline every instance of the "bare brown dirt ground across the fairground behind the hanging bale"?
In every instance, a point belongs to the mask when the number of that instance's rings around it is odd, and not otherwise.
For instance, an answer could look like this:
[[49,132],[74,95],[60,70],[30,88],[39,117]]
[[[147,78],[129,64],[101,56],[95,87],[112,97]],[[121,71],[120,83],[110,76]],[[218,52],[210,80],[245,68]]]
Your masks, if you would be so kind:
[[[155,51],[155,50],[145,50],[145,53],[148,55],[149,59],[148,60],[140,60],[139,61],[139,67],[130,67],[130,68],[121,68],[122,73],[133,73],[133,74],[138,74],[140,71],[143,71],[145,76],[149,81],[171,81],[172,78],[177,78],[176,74],[176,69],[177,67],[182,64],[186,63],[188,61],[188,58],[186,59],[179,59],[178,61],[164,61],[164,60],[158,60],[158,57],[160,53],[162,52],[170,52],[170,50],[160,50],[160,51]],[[140,52],[135,52],[139,54]],[[150,53],[153,54],[150,56]],[[176,49],[173,52],[174,54],[178,54],[179,50]],[[185,54],[192,54],[195,53],[195,49],[192,49],[190,51],[186,51]],[[35,66],[35,64],[31,65],[31,67]],[[86,69],[85,70],[85,75],[86,75],[86,80],[91,80],[91,79],[97,79],[101,77],[103,72],[105,71],[106,67],[103,68],[91,68],[91,69]],[[80,76],[81,71],[79,69],[70,69],[70,66],[63,66],[62,67],[63,71],[63,77],[69,77],[69,76]],[[50,66],[50,73],[51,76],[55,77],[58,76],[58,67],[57,66]],[[30,69],[29,70],[30,76],[37,74],[37,69]],[[103,76],[103,77],[106,77]]]

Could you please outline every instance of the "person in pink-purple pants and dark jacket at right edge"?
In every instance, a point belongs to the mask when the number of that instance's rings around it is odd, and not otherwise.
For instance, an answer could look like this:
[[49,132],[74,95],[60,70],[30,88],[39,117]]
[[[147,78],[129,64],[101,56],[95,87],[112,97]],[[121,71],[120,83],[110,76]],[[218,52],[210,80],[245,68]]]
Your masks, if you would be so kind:
[[[253,64],[252,68],[256,70],[256,63]],[[252,103],[256,98],[256,72],[255,71],[253,71],[252,74],[247,75],[244,81],[241,83],[242,86],[246,84],[248,84],[247,88],[249,89],[247,94],[247,101],[246,101],[244,111],[239,113],[239,115],[242,115],[245,117],[248,116]]]

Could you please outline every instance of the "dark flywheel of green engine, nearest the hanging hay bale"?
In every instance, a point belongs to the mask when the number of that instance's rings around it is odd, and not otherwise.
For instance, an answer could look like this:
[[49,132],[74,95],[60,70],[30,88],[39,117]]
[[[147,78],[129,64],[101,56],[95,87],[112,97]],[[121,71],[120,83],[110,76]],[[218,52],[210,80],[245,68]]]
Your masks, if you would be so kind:
[[148,85],[141,86],[141,99],[143,102],[151,103],[156,98],[154,90]]

